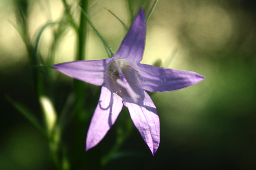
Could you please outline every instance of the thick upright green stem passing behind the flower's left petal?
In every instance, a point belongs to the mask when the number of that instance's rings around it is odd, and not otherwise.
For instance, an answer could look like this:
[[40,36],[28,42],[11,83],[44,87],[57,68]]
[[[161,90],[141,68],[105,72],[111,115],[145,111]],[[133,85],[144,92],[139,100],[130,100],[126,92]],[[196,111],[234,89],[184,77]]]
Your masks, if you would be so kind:
[[[88,0],[80,1],[81,8],[87,12]],[[78,44],[76,60],[84,60],[86,54],[86,35],[87,34],[87,21],[81,12],[80,25],[78,28]],[[79,80],[74,80],[76,103],[74,110],[74,138],[73,138],[73,150],[72,150],[72,169],[82,169],[84,167],[84,155],[85,155],[85,123],[86,116],[86,93],[84,90],[84,83]]]

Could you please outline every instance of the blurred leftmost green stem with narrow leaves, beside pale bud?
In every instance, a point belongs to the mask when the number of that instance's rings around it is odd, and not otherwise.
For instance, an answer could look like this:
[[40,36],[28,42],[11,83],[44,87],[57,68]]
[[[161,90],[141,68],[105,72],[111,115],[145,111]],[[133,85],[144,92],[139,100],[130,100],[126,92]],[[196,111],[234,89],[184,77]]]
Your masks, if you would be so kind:
[[[17,1],[16,2],[16,7],[17,7],[17,18],[18,18],[18,25],[20,28],[20,36],[22,37],[27,51],[28,51],[28,55],[29,55],[29,61],[30,61],[30,65],[31,65],[31,69],[32,69],[32,76],[33,76],[33,82],[34,82],[34,87],[35,87],[35,93],[37,95],[37,102],[40,103],[40,97],[45,94],[45,82],[44,82],[44,77],[42,75],[42,73],[40,72],[41,68],[39,67],[34,67],[34,66],[38,66],[41,63],[39,62],[39,54],[38,54],[38,44],[39,44],[39,40],[41,39],[41,35],[44,32],[44,30],[46,28],[48,28],[49,25],[53,25],[55,23],[48,23],[46,25],[44,25],[44,27],[41,28],[41,31],[39,32],[37,39],[35,41],[35,43],[31,42],[30,38],[29,38],[29,20],[28,15],[29,15],[29,3],[27,0],[21,0],[21,1]],[[19,105],[18,105],[19,106]],[[42,114],[45,115],[46,111],[44,111],[43,106],[40,104],[41,106],[41,112]],[[30,116],[29,112],[26,113],[25,108],[19,107],[21,111],[23,111],[23,114],[30,119],[30,121],[32,123],[34,123],[35,125],[37,125],[38,129],[41,129],[41,131],[46,131],[44,130],[41,126],[39,126],[38,122],[36,121],[36,119],[34,119],[33,116]],[[45,121],[45,124],[47,126],[47,123]],[[45,128],[46,129],[46,128]],[[48,131],[45,132],[45,134],[48,137],[48,142],[49,142],[49,149],[50,149],[50,154],[52,157],[52,160],[55,164],[55,166],[57,167],[57,169],[61,169],[61,164],[60,164],[60,159],[59,159],[59,137],[56,136],[56,134],[52,134],[52,131]],[[55,138],[54,138],[55,137]]]

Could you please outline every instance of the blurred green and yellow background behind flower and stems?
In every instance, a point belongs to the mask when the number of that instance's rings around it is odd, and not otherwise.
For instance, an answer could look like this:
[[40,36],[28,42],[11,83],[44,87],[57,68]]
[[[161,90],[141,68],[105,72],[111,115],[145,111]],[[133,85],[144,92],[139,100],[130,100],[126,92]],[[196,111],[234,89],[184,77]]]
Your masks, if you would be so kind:
[[[77,1],[68,2],[73,4],[72,10],[79,8]],[[146,2],[149,8],[153,4]],[[143,2],[132,3],[135,15]],[[138,131],[133,130],[121,150],[139,151],[142,156],[117,155],[103,169],[256,168],[255,7],[249,0],[158,1],[148,20],[141,63],[153,64],[161,59],[164,67],[195,71],[206,79],[182,90],[152,95],[161,122],[161,142],[154,156]],[[126,31],[107,9],[124,23],[129,23],[132,16],[126,0],[89,1],[90,19],[116,52]],[[47,139],[5,98],[11,96],[35,113],[39,110],[26,47],[13,26],[14,10],[12,1],[0,0],[0,169],[54,169]],[[31,0],[29,11],[32,38],[42,24],[60,17],[63,5],[60,0]],[[79,17],[75,12],[74,15]],[[46,30],[39,44],[43,58],[49,53],[50,41],[52,34]],[[108,57],[91,28],[87,42],[88,60]],[[74,60],[74,49],[75,33],[68,29],[56,50],[54,63]],[[53,74],[58,75],[55,71]],[[61,76],[59,81],[63,94],[73,90],[71,78]],[[95,87],[89,87],[92,90],[88,93],[93,96],[90,104],[95,107],[99,96],[94,95]],[[57,110],[58,107],[61,106]],[[36,117],[42,119],[39,112]],[[118,119],[122,118],[120,115]],[[67,131],[73,126],[70,123]],[[116,126],[101,145],[113,145]],[[70,134],[65,133],[64,139],[68,141]],[[84,149],[85,144],[81,147]],[[87,152],[91,166],[97,154],[100,153],[96,147]]]

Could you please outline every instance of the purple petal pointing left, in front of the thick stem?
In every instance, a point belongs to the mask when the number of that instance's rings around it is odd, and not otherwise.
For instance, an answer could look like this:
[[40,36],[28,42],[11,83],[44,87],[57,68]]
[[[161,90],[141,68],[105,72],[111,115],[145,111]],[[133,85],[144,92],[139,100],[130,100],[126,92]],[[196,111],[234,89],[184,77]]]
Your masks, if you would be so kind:
[[105,60],[74,61],[53,65],[53,68],[74,79],[101,86],[109,64],[113,58]]

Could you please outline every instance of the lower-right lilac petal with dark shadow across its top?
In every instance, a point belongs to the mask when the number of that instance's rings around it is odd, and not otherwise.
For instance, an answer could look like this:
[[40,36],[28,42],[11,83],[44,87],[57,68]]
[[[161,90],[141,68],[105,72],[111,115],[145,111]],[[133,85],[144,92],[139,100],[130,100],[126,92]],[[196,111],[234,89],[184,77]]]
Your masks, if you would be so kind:
[[142,98],[138,103],[132,102],[131,99],[129,101],[127,98],[123,98],[123,103],[128,108],[134,125],[154,155],[160,142],[160,122],[157,108],[146,91],[141,90],[140,95]]

